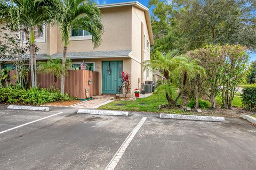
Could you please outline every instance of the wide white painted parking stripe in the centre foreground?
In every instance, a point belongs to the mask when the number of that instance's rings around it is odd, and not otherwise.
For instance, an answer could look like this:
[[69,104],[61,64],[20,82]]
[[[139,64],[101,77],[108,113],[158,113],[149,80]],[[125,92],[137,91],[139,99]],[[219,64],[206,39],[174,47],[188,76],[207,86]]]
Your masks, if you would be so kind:
[[116,165],[118,164],[119,160],[123,156],[126,148],[129,146],[131,143],[132,139],[134,138],[135,134],[140,130],[141,126],[144,124],[146,121],[147,117],[143,117],[140,122],[137,124],[137,126],[132,130],[132,132],[128,135],[128,137],[125,139],[121,147],[117,150],[116,154],[114,157],[111,159],[110,163],[108,166],[105,168],[105,170],[114,170]]

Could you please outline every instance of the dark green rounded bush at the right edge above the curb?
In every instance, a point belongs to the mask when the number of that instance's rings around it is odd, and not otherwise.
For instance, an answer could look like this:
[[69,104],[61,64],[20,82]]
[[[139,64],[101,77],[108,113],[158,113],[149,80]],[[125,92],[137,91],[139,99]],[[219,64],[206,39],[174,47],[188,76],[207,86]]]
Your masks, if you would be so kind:
[[250,112],[256,111],[256,87],[247,87],[243,89],[242,102],[243,107]]

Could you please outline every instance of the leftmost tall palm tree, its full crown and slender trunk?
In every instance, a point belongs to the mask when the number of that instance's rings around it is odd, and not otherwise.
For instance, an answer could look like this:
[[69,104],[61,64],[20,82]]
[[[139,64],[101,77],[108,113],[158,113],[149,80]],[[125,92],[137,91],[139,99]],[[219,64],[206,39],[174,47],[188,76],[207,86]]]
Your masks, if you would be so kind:
[[32,87],[37,87],[34,31],[38,29],[39,34],[42,34],[43,26],[53,22],[59,1],[12,0],[10,2],[2,5],[5,11],[0,13],[1,19],[10,25],[12,31],[23,30],[29,33],[31,84]]

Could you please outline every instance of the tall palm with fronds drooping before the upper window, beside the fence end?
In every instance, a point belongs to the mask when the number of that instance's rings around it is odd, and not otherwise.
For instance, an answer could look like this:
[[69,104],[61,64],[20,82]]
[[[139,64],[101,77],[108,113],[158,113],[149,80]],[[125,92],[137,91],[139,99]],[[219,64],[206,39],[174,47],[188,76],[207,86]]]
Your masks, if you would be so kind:
[[[103,25],[101,13],[93,2],[84,0],[63,0],[59,8],[58,18],[63,42],[62,66],[65,67],[67,49],[71,30],[86,30],[92,35],[93,47],[97,48],[101,43]],[[61,93],[64,91],[65,76],[61,76]]]

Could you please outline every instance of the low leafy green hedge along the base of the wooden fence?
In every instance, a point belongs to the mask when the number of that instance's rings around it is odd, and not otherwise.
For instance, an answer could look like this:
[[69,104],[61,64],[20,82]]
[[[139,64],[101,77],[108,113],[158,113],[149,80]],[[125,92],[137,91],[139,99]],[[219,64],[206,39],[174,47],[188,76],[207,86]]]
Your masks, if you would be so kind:
[[21,89],[19,87],[10,86],[7,88],[0,88],[0,103],[23,103],[42,105],[53,101],[66,101],[73,98],[68,94],[61,95],[59,90],[51,89]]

